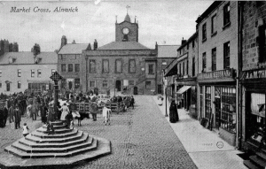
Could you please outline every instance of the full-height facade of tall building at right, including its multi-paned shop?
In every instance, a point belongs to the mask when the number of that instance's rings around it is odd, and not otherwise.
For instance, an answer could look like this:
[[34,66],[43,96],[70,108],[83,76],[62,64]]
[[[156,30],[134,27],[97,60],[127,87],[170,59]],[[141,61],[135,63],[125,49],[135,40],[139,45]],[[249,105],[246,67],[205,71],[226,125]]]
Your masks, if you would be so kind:
[[196,20],[199,118],[231,145],[237,134],[238,6],[236,1],[215,1]]

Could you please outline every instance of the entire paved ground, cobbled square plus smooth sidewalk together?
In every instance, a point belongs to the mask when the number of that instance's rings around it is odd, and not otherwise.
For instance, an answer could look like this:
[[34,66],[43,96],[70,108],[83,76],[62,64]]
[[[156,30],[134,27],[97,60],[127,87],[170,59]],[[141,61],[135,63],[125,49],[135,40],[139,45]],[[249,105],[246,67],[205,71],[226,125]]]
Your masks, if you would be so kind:
[[[178,110],[180,121],[169,123],[164,116],[165,103],[159,106],[157,96],[134,97],[135,109],[113,112],[110,126],[103,123],[101,114],[97,121],[83,119],[81,127],[74,121],[75,128],[111,141],[112,154],[69,168],[246,168],[236,155],[239,150],[201,127],[186,111]],[[36,121],[23,117],[21,125],[24,122],[30,132],[42,126],[40,117]],[[0,153],[6,153],[4,147],[22,137],[21,127],[14,129],[8,121],[6,127],[0,128]],[[223,142],[222,149],[217,142]]]

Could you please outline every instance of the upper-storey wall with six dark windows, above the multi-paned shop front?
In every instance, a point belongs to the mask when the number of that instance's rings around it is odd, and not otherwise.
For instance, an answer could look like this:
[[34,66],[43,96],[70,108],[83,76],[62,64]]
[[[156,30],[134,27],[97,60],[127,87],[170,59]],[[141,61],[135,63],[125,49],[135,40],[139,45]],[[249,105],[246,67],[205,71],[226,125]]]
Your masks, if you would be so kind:
[[[231,24],[223,26],[223,6],[230,4]],[[216,15],[216,33],[211,32],[212,17]],[[207,39],[202,40],[202,25],[207,25]],[[207,67],[205,72],[212,71],[212,49],[216,48],[216,70],[223,70],[223,44],[230,42],[230,68],[237,69],[238,64],[238,2],[223,2],[214,12],[199,24],[199,73],[202,71],[202,54],[206,52]]]

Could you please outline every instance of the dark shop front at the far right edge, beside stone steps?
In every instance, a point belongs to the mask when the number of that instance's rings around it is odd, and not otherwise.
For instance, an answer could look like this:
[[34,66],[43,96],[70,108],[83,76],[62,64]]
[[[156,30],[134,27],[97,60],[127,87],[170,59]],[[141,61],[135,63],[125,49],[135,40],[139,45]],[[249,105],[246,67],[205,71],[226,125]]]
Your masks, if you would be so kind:
[[[243,150],[266,150],[266,70],[244,71],[240,76],[242,104],[241,146]],[[266,151],[265,151],[266,152]]]

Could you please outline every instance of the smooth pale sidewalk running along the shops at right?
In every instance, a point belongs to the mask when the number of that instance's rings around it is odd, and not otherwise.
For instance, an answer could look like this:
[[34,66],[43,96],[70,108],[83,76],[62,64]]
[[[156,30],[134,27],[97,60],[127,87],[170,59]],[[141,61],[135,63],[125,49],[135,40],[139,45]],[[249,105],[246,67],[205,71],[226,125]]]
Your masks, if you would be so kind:
[[[158,103],[157,96],[153,96],[153,100]],[[158,105],[163,115],[166,112],[165,105],[165,100],[162,106]],[[169,105],[168,102],[167,110]],[[225,142],[215,131],[202,127],[199,120],[190,117],[189,111],[178,109],[178,115],[179,121],[176,123],[170,123],[168,117],[165,119],[198,168],[247,168],[238,156],[242,151]]]

